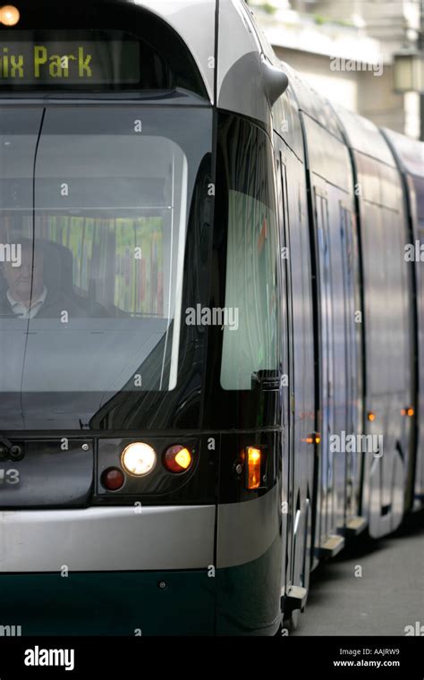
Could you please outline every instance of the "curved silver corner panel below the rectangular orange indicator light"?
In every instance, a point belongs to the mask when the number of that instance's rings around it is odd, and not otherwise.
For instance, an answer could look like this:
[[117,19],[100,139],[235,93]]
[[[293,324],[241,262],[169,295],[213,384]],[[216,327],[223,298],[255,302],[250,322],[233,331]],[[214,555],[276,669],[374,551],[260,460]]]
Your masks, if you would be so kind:
[[280,516],[276,485],[255,500],[218,506],[216,566],[244,565],[263,555],[276,540]]

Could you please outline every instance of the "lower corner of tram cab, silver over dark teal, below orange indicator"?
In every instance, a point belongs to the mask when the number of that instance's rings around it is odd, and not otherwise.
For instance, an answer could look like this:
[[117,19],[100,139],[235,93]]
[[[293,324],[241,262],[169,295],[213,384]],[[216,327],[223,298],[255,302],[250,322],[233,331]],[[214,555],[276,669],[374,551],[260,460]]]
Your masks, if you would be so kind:
[[278,630],[281,530],[281,480],[261,497],[217,507],[217,635],[272,635]]

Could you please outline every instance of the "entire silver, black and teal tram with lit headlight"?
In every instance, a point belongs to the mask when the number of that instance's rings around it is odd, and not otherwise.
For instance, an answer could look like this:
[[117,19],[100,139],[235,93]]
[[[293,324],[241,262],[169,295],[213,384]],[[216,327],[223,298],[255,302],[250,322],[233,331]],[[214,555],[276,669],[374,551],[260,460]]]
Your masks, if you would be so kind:
[[1,631],[296,625],[423,505],[423,145],[242,0],[13,0],[0,149]]

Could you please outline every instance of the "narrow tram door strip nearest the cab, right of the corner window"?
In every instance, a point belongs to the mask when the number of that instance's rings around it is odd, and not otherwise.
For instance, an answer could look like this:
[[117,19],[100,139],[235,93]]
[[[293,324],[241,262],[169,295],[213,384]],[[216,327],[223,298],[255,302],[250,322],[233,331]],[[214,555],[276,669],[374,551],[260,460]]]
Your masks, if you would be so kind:
[[293,365],[293,292],[292,269],[290,258],[289,214],[287,203],[287,175],[284,154],[280,151],[276,160],[277,199],[279,209],[280,255],[281,255],[281,344],[283,357],[282,391],[282,427],[283,443],[283,485],[282,485],[282,517],[283,517],[283,565],[285,588],[293,584],[293,534],[299,523],[293,500],[294,489],[294,365]]

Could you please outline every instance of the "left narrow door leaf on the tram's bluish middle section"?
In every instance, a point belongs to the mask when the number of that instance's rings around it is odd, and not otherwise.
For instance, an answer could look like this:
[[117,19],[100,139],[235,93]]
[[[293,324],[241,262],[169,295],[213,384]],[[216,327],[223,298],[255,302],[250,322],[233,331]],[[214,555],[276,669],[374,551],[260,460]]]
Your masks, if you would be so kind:
[[315,209],[318,230],[318,278],[319,278],[319,325],[320,325],[320,382],[321,382],[321,461],[320,486],[320,539],[332,532],[333,453],[330,437],[334,432],[334,329],[333,292],[331,281],[330,234],[326,198],[316,190]]

